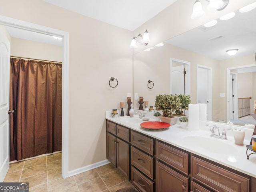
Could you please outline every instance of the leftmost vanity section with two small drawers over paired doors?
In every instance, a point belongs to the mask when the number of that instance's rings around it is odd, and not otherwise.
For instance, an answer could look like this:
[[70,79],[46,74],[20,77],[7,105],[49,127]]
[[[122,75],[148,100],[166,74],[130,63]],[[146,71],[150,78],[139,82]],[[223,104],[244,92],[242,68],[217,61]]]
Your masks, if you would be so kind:
[[107,121],[107,159],[128,179],[130,177],[130,147],[128,128]]

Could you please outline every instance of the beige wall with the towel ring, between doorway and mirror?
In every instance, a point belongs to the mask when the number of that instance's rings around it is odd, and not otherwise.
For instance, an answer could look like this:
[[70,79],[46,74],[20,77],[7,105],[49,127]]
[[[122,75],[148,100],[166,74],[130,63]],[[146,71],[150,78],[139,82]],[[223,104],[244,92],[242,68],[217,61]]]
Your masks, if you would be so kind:
[[2,0],[0,15],[69,32],[68,170],[105,160],[105,110],[132,93],[132,32],[41,0]]

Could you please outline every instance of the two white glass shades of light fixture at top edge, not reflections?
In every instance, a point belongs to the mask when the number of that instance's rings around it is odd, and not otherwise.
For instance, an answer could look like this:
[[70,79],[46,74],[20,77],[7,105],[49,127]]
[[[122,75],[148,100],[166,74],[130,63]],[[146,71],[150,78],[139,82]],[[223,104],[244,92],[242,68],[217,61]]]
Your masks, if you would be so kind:
[[[206,0],[209,2],[207,9],[208,10],[223,10],[228,5],[229,0]],[[193,12],[191,14],[192,19],[199,19],[204,15],[204,10],[200,0],[196,0],[193,6]]]

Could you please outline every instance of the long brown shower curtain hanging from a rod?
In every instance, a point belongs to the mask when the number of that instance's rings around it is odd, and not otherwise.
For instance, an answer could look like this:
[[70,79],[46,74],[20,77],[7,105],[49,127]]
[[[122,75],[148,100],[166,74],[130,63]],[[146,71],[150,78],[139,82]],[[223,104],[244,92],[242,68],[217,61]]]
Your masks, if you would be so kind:
[[10,59],[10,160],[61,150],[62,65]]

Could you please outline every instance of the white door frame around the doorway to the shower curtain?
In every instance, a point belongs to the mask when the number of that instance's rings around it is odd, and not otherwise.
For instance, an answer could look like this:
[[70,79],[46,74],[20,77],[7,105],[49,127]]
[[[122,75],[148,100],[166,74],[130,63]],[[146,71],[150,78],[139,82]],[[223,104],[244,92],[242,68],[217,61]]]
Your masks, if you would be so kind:
[[62,177],[68,177],[68,48],[69,48],[69,33],[9,18],[6,16],[0,16],[0,24],[4,26],[15,27],[23,30],[29,30],[32,32],[38,32],[42,34],[60,36],[62,37]]

